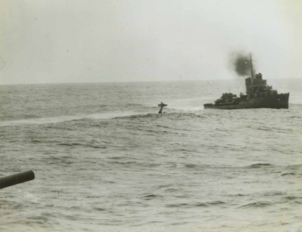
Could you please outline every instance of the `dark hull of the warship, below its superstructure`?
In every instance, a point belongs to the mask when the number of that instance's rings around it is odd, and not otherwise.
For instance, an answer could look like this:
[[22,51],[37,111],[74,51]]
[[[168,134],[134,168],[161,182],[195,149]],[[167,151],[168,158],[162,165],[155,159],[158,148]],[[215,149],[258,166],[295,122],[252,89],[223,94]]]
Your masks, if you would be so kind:
[[278,94],[267,97],[251,98],[248,101],[240,101],[237,104],[204,104],[205,109],[246,109],[246,108],[273,108],[273,109],[288,109],[289,93]]

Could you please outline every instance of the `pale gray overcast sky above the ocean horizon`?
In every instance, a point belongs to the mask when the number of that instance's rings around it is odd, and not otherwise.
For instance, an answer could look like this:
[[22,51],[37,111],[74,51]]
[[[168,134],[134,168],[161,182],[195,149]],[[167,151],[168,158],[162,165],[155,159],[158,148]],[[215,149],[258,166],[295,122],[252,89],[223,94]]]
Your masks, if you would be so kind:
[[3,0],[0,26],[0,84],[230,79],[236,51],[302,77],[300,0]]

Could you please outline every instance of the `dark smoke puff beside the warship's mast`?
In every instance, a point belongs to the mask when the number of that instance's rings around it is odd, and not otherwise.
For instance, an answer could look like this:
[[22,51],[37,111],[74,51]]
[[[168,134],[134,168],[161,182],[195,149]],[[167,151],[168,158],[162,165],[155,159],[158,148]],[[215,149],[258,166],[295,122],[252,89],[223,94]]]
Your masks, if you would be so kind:
[[[251,76],[251,62],[250,62],[250,54],[243,53],[231,53],[230,62],[232,64],[232,68],[239,76]],[[254,64],[253,65],[253,73],[255,74]]]

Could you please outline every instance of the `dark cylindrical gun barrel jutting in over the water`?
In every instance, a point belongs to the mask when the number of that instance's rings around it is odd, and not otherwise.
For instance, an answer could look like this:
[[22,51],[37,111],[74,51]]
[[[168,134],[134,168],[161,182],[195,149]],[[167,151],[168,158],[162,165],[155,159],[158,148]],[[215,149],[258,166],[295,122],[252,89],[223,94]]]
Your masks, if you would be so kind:
[[11,185],[17,185],[26,181],[33,180],[35,174],[33,171],[20,172],[11,176],[5,176],[0,178],[0,189],[6,188]]

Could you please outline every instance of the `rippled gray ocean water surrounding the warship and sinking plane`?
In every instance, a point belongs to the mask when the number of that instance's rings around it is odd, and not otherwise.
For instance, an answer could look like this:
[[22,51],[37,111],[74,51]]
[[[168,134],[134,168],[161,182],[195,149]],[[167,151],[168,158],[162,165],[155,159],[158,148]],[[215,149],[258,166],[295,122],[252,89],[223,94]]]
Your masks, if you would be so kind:
[[243,79],[0,86],[0,178],[35,173],[0,231],[302,231],[301,79],[268,84],[289,109],[203,109]]

